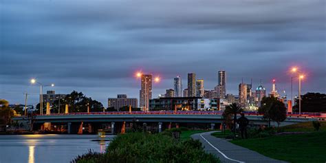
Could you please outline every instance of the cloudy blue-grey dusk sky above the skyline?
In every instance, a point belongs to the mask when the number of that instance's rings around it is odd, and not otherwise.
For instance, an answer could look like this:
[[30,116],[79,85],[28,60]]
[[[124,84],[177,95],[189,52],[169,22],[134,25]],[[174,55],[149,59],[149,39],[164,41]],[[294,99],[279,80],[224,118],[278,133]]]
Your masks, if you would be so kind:
[[[290,97],[298,67],[306,92],[326,93],[324,0],[2,0],[0,98],[36,105],[39,86],[56,93],[82,91],[107,106],[107,98],[139,98],[135,72],[160,76],[153,97],[173,78],[195,72],[205,89],[226,71],[227,94],[238,85]],[[298,92],[294,78],[293,95]]]

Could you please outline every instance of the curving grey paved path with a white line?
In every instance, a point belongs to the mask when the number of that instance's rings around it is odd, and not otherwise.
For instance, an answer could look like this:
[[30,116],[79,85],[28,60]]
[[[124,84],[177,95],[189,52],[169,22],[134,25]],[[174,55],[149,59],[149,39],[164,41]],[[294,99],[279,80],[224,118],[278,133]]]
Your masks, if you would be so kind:
[[[227,140],[216,138],[210,133],[216,131],[210,131],[206,133],[196,133],[191,135],[192,138],[199,140],[205,147],[205,151],[213,153],[221,162],[263,162],[263,163],[281,163],[283,161],[274,160],[270,157],[261,155],[255,151],[237,146],[228,142]],[[259,143],[259,142],[257,142]]]

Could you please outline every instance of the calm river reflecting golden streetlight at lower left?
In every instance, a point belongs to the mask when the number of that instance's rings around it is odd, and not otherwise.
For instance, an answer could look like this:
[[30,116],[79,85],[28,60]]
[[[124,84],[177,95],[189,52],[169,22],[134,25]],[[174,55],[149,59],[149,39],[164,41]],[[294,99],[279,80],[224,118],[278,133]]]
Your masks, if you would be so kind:
[[[109,138],[98,135],[0,135],[0,163],[70,162],[88,149],[105,152]],[[91,141],[102,140],[102,141]]]

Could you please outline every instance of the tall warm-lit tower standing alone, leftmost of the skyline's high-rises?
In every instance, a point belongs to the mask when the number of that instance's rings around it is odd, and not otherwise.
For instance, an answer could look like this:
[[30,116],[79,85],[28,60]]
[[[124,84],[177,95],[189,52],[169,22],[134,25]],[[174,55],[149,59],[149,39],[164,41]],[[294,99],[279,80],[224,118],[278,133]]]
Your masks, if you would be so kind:
[[152,98],[152,75],[142,74],[141,78],[140,108],[143,111],[147,111],[149,109],[149,100]]

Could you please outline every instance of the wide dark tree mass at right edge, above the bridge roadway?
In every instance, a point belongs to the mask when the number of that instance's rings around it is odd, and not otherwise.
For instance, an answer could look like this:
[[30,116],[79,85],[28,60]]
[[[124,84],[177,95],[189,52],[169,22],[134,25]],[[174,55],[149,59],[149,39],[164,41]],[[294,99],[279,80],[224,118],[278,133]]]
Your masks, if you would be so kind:
[[[326,111],[326,94],[307,93],[301,96],[301,112]],[[293,109],[298,112],[298,99]]]

